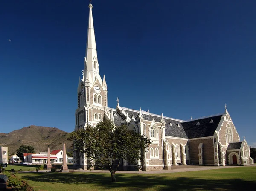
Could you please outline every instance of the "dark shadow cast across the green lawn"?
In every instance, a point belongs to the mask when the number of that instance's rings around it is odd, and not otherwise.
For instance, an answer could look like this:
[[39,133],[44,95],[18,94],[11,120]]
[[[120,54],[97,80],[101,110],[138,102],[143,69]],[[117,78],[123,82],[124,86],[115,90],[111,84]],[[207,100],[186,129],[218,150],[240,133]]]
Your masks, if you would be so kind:
[[93,184],[104,189],[126,188],[131,190],[143,190],[153,188],[158,191],[184,191],[184,190],[212,190],[212,191],[255,191],[255,181],[243,179],[204,179],[203,177],[178,177],[161,175],[140,175],[140,174],[116,174],[119,182],[111,182],[109,174],[90,173],[37,173],[31,176],[23,174],[22,179],[35,182],[51,182],[62,184]]

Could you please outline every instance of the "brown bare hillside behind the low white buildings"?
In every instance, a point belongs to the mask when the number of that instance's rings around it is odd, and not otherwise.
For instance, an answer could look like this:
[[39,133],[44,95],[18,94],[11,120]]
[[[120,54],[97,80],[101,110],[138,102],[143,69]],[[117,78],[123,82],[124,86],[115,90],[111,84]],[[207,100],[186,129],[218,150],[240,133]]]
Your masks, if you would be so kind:
[[51,150],[62,149],[66,144],[67,151],[72,150],[72,141],[67,141],[69,133],[55,127],[31,125],[14,130],[10,133],[0,133],[0,146],[8,147],[8,153],[16,153],[20,145],[31,145],[38,153],[47,152],[48,144]]

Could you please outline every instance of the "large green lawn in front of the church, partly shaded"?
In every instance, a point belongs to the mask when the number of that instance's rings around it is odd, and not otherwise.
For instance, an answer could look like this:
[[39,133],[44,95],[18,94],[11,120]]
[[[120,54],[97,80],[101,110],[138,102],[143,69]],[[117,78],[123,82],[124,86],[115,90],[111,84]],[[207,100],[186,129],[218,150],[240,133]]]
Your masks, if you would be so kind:
[[35,190],[44,191],[255,191],[256,167],[222,168],[168,174],[21,173]]

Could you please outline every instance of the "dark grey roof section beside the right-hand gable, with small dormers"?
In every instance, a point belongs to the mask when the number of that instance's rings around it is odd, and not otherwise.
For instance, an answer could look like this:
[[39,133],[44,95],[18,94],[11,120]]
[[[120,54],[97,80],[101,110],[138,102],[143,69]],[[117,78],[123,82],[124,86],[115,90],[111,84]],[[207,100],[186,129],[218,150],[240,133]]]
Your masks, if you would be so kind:
[[[195,121],[183,122],[181,124],[189,139],[213,136],[214,131],[217,129],[218,124],[221,121],[221,116],[222,115],[207,117]],[[213,123],[210,123],[211,120],[213,120]],[[196,125],[198,122],[200,124]]]

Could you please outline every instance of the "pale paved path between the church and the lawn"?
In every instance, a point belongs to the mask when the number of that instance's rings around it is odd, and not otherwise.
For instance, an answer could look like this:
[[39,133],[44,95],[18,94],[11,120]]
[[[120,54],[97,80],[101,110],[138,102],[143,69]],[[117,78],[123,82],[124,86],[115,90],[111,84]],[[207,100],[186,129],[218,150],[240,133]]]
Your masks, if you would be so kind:
[[[256,166],[256,165],[250,165]],[[247,166],[173,166],[175,169],[171,170],[157,170],[157,171],[116,171],[116,173],[125,173],[125,174],[163,174],[163,173],[175,173],[175,172],[189,172],[189,171],[204,171],[212,169],[221,169],[221,168],[243,168]],[[22,172],[36,172],[36,171],[22,171]],[[41,170],[38,172],[49,172],[49,170]],[[109,173],[108,170],[74,170],[74,172],[86,172],[86,173]]]

